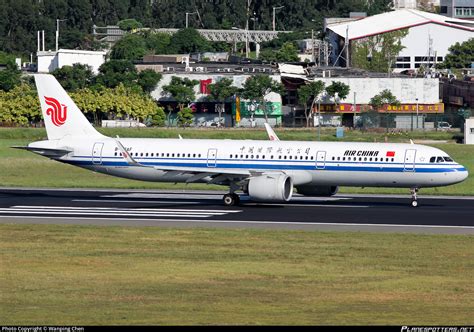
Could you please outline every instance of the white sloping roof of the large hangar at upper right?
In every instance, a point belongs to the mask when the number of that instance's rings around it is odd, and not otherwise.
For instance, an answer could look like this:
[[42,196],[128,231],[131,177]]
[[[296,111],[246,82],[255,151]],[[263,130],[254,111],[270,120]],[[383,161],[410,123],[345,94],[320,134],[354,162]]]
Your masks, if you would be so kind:
[[[410,28],[417,25],[436,23],[474,32],[474,21],[461,20],[415,9],[400,9],[392,12],[362,18],[349,23],[329,25],[327,29],[345,38],[359,39],[385,32]],[[346,32],[347,28],[349,30]],[[474,34],[473,34],[474,37]]]

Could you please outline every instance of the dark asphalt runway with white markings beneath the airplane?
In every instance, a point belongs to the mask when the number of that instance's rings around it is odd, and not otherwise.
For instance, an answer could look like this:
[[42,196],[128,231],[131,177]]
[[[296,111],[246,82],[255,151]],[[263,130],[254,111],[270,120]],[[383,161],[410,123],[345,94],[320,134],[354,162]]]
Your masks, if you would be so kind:
[[474,234],[474,197],[295,196],[285,204],[242,197],[225,207],[224,192],[0,188],[0,223],[231,227],[320,231]]

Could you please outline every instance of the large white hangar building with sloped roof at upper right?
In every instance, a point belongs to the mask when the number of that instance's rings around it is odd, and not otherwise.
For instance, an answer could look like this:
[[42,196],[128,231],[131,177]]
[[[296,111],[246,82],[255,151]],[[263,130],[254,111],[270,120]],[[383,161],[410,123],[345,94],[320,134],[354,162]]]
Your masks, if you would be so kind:
[[328,25],[326,29],[332,45],[331,60],[336,65],[346,65],[346,38],[349,39],[350,50],[355,41],[408,29],[408,34],[401,40],[405,48],[396,59],[396,72],[420,66],[431,68],[444,60],[449,47],[474,38],[474,21],[414,9],[395,10],[357,21]]

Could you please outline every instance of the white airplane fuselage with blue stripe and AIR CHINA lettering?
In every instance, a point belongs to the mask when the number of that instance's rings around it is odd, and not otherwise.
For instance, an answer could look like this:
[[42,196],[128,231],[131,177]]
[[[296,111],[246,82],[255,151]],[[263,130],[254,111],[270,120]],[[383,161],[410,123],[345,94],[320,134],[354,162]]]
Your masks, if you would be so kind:
[[[364,186],[422,188],[463,181],[467,170],[436,148],[417,144],[208,139],[120,139],[133,159],[127,163],[108,137],[41,141],[30,146],[65,148],[57,158],[72,165],[114,176],[158,182],[186,182],[197,172],[284,172],[295,186]],[[441,158],[439,158],[441,157]],[[433,159],[434,158],[434,159]],[[446,159],[444,159],[446,158]],[[176,171],[155,169],[177,167]],[[200,177],[200,182],[209,182]]]

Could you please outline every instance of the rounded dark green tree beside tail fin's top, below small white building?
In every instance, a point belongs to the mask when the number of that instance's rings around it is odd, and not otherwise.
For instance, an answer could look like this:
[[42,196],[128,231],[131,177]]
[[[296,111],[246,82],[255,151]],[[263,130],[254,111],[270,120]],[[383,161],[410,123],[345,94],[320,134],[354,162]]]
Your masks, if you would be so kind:
[[67,91],[84,89],[90,86],[95,78],[91,67],[80,63],[57,68],[52,74]]

